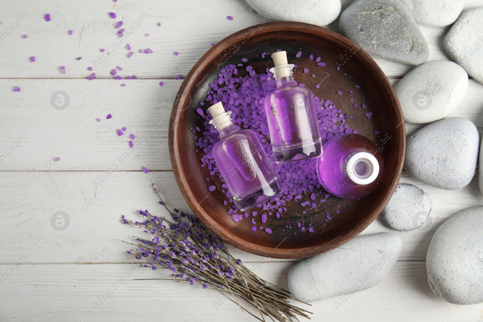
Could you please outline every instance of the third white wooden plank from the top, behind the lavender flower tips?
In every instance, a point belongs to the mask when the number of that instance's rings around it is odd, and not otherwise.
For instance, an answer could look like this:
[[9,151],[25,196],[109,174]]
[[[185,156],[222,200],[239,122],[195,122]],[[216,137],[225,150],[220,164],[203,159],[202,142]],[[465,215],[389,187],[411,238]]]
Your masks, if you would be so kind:
[[[93,181],[99,181],[99,175],[100,172],[90,171],[0,172],[0,218],[3,223],[0,227],[3,239],[0,263],[8,263],[18,252],[34,247],[34,251],[29,252],[30,263],[126,262],[127,247],[117,239],[131,240],[137,230],[121,224],[121,215],[136,219],[135,211],[141,208],[165,214],[157,204],[156,196],[148,189],[151,179],[170,208],[190,211],[170,171],[148,174],[115,171],[96,190]],[[483,202],[476,178],[469,186],[457,191],[430,187],[407,176],[401,182],[416,184],[431,196],[433,210],[428,226],[411,232],[397,232],[385,226],[379,218],[363,232],[400,234],[404,246],[399,260],[425,260],[429,241],[440,224]],[[53,229],[51,217],[57,211],[64,211],[69,216],[67,230]],[[233,247],[230,250],[244,261],[262,258]]]

